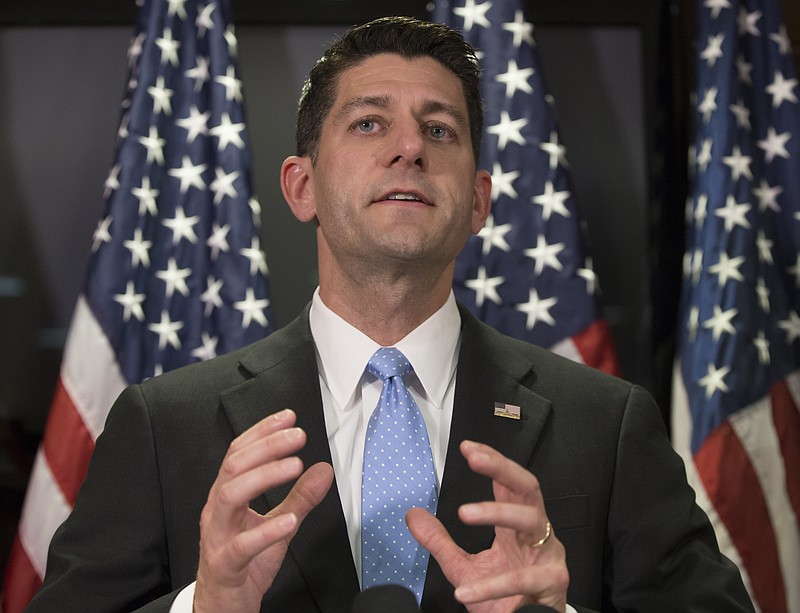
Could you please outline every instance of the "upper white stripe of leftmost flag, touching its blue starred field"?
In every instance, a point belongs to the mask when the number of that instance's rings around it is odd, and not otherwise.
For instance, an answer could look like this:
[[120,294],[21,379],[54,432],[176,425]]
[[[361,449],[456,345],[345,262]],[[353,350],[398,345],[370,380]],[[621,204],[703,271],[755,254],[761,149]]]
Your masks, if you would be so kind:
[[114,350],[81,294],[69,327],[61,381],[92,440],[96,440],[127,383]]

